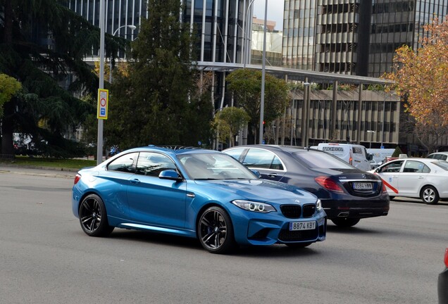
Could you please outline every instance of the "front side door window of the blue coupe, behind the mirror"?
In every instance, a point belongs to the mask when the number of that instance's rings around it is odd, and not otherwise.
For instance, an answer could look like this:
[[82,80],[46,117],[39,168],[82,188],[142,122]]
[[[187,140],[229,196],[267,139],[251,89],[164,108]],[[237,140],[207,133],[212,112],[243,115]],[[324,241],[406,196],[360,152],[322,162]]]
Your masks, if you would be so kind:
[[140,152],[137,162],[137,175],[158,177],[163,170],[177,170],[173,160],[168,156],[154,152]]

